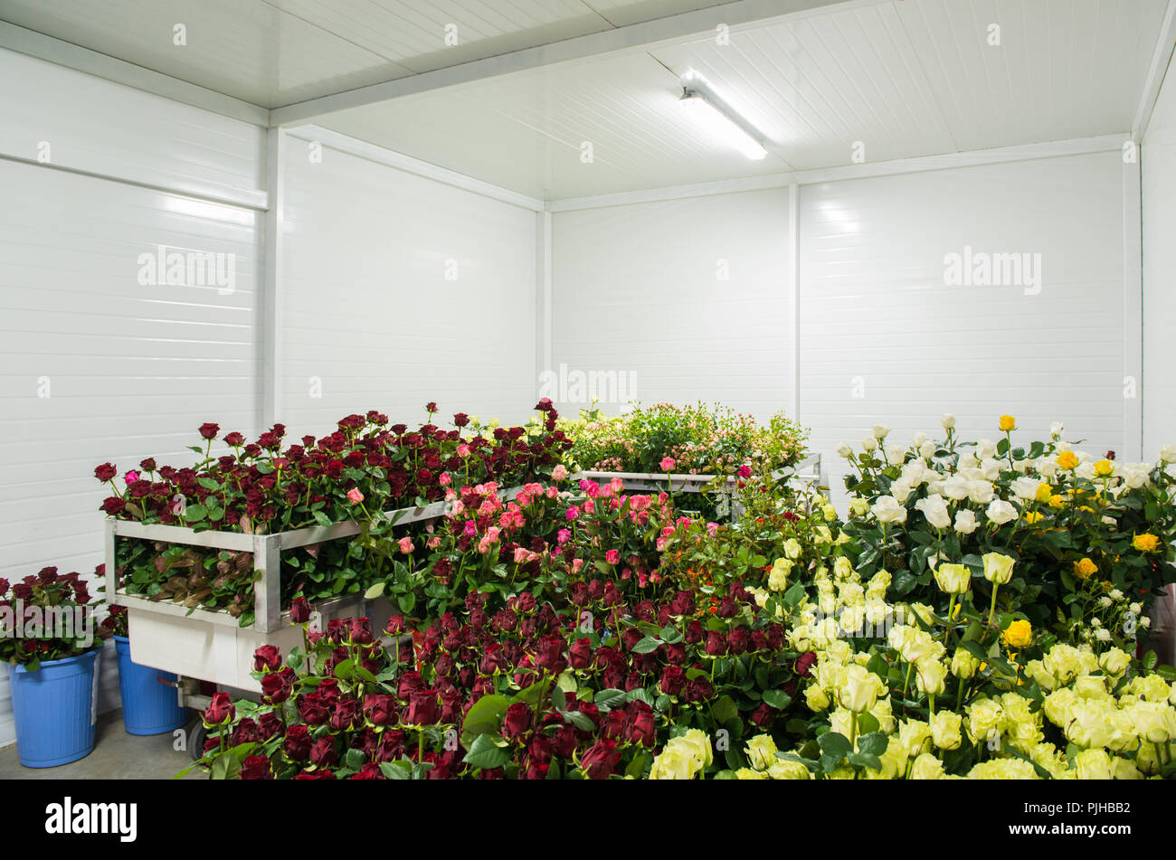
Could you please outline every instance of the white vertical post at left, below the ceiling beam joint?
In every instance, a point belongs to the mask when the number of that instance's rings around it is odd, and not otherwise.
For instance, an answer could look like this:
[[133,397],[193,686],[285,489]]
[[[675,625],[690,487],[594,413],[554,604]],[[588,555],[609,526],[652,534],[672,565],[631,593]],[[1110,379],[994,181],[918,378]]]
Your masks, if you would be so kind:
[[282,412],[282,230],[285,214],[283,161],[288,152],[285,129],[266,132],[266,260],[261,302],[258,308],[261,328],[261,397],[260,419],[265,429],[279,421]]

